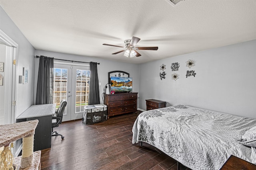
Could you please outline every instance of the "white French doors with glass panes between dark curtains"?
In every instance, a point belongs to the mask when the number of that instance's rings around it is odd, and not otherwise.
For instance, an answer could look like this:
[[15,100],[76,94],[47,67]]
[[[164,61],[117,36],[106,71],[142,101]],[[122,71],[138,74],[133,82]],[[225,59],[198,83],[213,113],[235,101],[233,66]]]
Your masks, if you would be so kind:
[[62,121],[82,119],[88,105],[89,80],[89,66],[54,63],[53,102],[56,107],[62,99],[68,103]]

